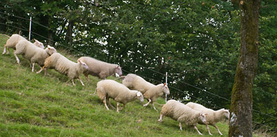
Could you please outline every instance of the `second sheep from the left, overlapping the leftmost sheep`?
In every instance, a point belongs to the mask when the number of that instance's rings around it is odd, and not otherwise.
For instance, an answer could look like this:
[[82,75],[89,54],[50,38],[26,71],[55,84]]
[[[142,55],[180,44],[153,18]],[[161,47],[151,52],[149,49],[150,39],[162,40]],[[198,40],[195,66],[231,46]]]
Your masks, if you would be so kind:
[[26,40],[20,40],[15,46],[15,58],[17,60],[17,64],[19,64],[19,57],[17,55],[23,55],[24,58],[30,61],[30,66],[32,66],[32,72],[35,69],[35,63],[39,64],[39,66],[44,65],[44,61],[47,57],[52,55],[53,53],[57,53],[55,48],[52,46],[47,46],[47,48],[39,48]]

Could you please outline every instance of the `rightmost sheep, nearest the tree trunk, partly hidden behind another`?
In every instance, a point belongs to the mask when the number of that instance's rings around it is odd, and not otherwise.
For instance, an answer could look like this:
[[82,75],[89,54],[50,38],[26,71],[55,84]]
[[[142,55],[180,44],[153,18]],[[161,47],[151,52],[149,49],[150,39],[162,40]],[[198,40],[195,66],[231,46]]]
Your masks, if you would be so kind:
[[211,134],[210,129],[208,128],[208,125],[212,125],[213,127],[215,127],[217,129],[217,131],[220,133],[220,135],[222,135],[222,133],[220,132],[220,129],[218,129],[218,127],[215,125],[217,122],[220,122],[221,120],[223,120],[224,118],[228,118],[230,117],[230,112],[227,109],[220,109],[217,111],[214,111],[213,109],[208,109],[204,106],[202,106],[201,104],[197,104],[195,102],[188,102],[186,104],[186,106],[195,109],[197,111],[200,111],[202,113],[208,113],[208,115],[206,116],[206,123],[203,122],[199,122],[199,124],[204,124],[206,125],[207,129],[208,129],[208,134]]

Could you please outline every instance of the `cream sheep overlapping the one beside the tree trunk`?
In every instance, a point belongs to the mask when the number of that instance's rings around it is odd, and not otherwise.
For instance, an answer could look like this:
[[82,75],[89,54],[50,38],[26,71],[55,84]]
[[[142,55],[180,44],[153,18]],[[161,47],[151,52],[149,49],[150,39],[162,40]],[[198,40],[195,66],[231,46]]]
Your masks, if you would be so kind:
[[182,129],[182,123],[185,123],[188,126],[192,126],[196,131],[202,135],[197,129],[196,125],[198,122],[206,123],[206,113],[201,113],[186,106],[185,104],[178,102],[176,100],[168,100],[166,104],[161,108],[161,115],[159,122],[163,121],[163,116],[168,116],[173,120],[179,122],[180,130]]

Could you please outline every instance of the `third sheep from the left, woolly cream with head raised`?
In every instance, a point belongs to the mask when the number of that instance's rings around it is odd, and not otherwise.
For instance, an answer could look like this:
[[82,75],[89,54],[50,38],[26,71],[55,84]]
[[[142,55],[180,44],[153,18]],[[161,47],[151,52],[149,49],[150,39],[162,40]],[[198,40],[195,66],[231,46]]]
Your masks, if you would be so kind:
[[72,84],[74,86],[75,86],[75,83],[74,83],[75,78],[78,78],[82,86],[84,86],[84,83],[80,79],[79,75],[82,74],[82,72],[88,68],[89,67],[87,66],[87,64],[85,64],[81,60],[78,60],[78,62],[75,63],[67,59],[60,53],[53,53],[50,57],[46,58],[44,62],[44,66],[42,67],[42,69],[37,71],[37,73],[40,73],[42,72],[42,70],[44,70],[44,75],[46,75],[47,69],[55,69],[56,71],[64,75],[67,75],[69,77],[69,80],[72,81]]

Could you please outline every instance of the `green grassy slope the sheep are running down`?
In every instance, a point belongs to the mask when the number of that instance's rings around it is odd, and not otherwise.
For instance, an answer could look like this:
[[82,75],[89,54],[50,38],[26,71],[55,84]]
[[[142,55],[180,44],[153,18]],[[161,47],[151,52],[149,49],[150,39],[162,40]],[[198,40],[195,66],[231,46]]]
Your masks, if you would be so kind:
[[[0,51],[7,39],[0,35]],[[50,76],[32,73],[27,60],[19,55],[21,64],[17,65],[10,53],[0,56],[0,136],[199,136],[190,127],[180,131],[179,123],[168,117],[157,122],[159,112],[142,107],[139,100],[129,102],[120,113],[108,111],[98,96],[92,95],[98,78],[91,76],[87,82],[82,76],[85,86],[77,80],[77,86],[72,86],[66,83],[66,76],[53,70]],[[162,99],[158,102],[164,104]],[[217,126],[227,136],[228,125],[219,122]],[[208,136],[204,125],[197,127]],[[210,129],[220,136],[214,127]]]

